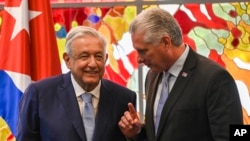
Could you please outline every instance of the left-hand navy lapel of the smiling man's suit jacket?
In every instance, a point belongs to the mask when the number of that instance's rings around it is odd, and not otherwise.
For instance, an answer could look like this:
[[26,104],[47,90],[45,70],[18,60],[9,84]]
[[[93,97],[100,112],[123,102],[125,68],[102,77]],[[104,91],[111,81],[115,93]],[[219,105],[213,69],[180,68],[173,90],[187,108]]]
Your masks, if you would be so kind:
[[85,130],[75,95],[73,85],[71,83],[70,73],[63,75],[62,85],[58,88],[58,97],[63,104],[66,114],[70,122],[73,124],[80,138],[85,141]]

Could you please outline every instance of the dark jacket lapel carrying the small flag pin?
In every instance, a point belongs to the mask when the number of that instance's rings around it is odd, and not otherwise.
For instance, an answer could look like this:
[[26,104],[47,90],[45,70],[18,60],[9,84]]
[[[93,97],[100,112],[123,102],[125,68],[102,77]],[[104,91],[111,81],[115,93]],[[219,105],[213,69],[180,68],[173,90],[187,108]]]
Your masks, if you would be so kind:
[[191,50],[189,51],[188,57],[184,63],[183,69],[178,75],[175,84],[169,93],[168,99],[164,105],[162,110],[162,115],[159,123],[159,129],[157,133],[157,138],[163,133],[162,129],[164,126],[167,126],[167,118],[169,113],[173,109],[173,106],[178,101],[179,97],[181,96],[182,92],[184,91],[186,85],[189,82],[189,79],[192,76],[192,69],[196,66],[197,62],[197,55]]

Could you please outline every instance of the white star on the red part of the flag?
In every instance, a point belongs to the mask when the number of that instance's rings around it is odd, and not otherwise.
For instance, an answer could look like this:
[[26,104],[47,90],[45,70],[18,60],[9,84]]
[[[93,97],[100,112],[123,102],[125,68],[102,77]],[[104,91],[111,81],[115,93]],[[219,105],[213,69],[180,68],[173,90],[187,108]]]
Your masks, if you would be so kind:
[[22,30],[26,30],[29,34],[29,21],[40,15],[40,11],[32,11],[28,8],[28,0],[22,0],[19,7],[4,7],[4,9],[16,19],[14,31],[11,40]]

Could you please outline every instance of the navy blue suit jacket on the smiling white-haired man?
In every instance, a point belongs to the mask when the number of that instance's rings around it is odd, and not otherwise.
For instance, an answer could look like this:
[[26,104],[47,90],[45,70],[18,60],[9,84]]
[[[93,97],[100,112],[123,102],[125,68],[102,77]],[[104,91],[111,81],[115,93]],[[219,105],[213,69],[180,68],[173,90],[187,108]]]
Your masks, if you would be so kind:
[[[93,141],[125,141],[118,122],[135,92],[102,79]],[[20,102],[17,141],[87,141],[70,73],[32,83]]]

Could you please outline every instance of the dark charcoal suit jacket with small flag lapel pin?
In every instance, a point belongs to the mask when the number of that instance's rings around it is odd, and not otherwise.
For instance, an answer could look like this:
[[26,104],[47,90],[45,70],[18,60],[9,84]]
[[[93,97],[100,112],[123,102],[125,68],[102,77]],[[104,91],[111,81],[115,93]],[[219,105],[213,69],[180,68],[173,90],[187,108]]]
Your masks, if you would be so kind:
[[229,125],[243,124],[233,78],[224,68],[190,48],[155,135],[153,107],[160,78],[160,73],[150,71],[146,77],[144,130],[148,141],[229,141]]

